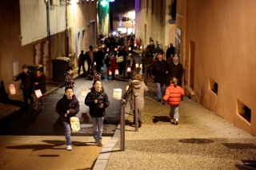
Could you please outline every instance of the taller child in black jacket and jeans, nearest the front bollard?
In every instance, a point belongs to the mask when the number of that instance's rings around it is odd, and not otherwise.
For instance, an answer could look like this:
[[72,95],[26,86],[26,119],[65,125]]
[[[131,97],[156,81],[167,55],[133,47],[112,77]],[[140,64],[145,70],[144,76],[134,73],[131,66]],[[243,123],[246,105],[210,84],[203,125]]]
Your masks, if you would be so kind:
[[93,121],[95,144],[102,146],[103,121],[106,115],[106,108],[110,101],[102,88],[102,81],[94,80],[91,92],[87,94],[85,104],[89,106],[90,116]]

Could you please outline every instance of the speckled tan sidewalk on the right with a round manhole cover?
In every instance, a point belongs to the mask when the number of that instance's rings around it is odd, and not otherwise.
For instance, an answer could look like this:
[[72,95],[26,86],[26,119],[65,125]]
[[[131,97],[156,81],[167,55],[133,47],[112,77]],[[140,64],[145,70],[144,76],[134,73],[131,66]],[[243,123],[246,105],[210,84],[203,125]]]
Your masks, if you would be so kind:
[[235,164],[242,161],[256,162],[255,136],[188,97],[179,107],[179,125],[171,125],[170,106],[154,99],[154,83],[148,83],[148,87],[142,128],[134,132],[133,116],[127,107],[126,150],[120,151],[119,135],[114,136],[102,148],[94,170],[237,169]]

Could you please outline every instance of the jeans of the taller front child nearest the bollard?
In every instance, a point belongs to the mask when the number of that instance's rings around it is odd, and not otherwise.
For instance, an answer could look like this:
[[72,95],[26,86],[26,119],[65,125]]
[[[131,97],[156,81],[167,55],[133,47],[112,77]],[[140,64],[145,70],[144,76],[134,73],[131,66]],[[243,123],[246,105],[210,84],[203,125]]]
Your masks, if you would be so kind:
[[94,140],[96,140],[97,142],[102,142],[104,117],[92,117],[92,121],[94,128]]

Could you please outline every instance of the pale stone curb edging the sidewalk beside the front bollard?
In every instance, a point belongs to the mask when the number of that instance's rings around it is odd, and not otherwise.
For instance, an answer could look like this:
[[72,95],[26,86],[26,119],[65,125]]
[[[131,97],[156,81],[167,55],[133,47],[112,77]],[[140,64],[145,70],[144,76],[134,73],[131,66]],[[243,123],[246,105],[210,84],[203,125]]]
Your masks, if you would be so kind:
[[[125,109],[125,118],[127,120],[127,118],[129,117],[130,113],[130,101],[126,102],[126,109]],[[111,152],[115,146],[115,144],[118,143],[118,140],[121,137],[121,125],[120,122],[118,124],[118,127],[116,128],[115,132],[114,132],[114,136],[111,138],[111,140],[109,140],[103,147],[101,152],[98,155],[98,158],[94,164],[94,168],[93,170],[102,170],[102,169],[106,169],[107,164],[110,160],[110,155]],[[121,152],[121,151],[120,151]]]

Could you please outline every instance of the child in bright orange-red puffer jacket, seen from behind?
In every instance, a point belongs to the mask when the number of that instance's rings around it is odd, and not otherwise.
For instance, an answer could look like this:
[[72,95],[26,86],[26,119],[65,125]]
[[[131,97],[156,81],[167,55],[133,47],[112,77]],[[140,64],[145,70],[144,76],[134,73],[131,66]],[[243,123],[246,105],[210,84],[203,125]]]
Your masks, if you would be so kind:
[[170,123],[174,125],[178,125],[178,105],[181,104],[181,99],[185,94],[184,90],[177,83],[178,79],[172,77],[165,96],[162,98],[162,105],[165,105],[166,101],[170,105]]

